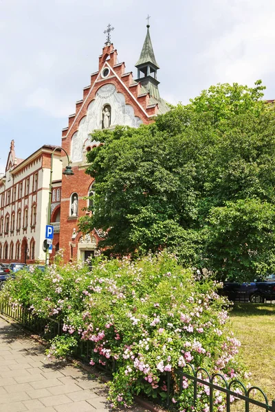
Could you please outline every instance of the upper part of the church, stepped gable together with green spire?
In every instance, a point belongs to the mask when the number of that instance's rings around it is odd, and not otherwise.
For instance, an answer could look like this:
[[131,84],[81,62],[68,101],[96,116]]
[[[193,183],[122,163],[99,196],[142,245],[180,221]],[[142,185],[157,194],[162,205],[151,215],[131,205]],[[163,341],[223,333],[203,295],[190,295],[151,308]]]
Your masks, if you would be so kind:
[[147,25],[142,52],[135,65],[136,79],[131,71],[125,71],[124,62],[118,62],[117,50],[108,34],[99,56],[98,71],[91,74],[89,86],[83,89],[83,98],[76,102],[76,111],[69,115],[69,124],[63,129],[63,148],[72,156],[73,163],[82,161],[94,130],[113,129],[117,125],[138,127],[169,110],[159,95],[159,66],[149,27]]

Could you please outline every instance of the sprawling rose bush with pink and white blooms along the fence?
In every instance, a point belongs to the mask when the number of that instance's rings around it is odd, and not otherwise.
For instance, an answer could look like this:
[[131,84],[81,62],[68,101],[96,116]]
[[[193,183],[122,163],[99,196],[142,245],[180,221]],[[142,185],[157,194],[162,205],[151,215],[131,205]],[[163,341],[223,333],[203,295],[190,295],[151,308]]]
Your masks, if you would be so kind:
[[[192,385],[184,379],[179,396],[176,369],[190,363],[228,380],[244,377],[236,358],[240,343],[230,331],[228,302],[218,287],[210,278],[196,279],[162,252],[134,262],[97,258],[92,268],[61,260],[43,275],[21,271],[0,297],[62,321],[63,334],[52,340],[48,356],[72,354],[80,341],[91,341],[91,365],[115,359],[109,384],[114,406],[131,405],[138,393],[165,400],[170,372],[172,402],[181,411],[194,411]],[[208,387],[198,387],[197,411],[208,411],[208,394]],[[214,402],[214,410],[224,410],[218,391]]]

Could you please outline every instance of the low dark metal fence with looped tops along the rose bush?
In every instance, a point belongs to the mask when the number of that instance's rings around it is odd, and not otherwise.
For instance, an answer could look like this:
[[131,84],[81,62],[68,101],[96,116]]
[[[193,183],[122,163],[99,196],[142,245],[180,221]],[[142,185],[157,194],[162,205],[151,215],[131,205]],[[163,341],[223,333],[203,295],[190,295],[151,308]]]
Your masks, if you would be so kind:
[[[47,340],[50,340],[54,338],[54,336],[64,333],[62,323],[52,318],[41,319],[36,315],[32,314],[32,311],[30,309],[23,308],[22,306],[12,306],[9,303],[1,302],[0,312],[10,317],[11,319],[14,319],[14,321],[19,322],[25,328],[28,328],[28,330],[31,330],[32,332],[42,335],[43,338]],[[75,356],[83,359],[83,361],[87,363],[89,363],[93,353],[94,343],[91,341],[80,341],[80,344],[74,352]],[[245,385],[243,385],[243,383],[239,380],[233,379],[230,382],[228,382],[228,380],[226,380],[225,377],[221,374],[214,374],[210,376],[208,371],[203,367],[195,369],[190,363],[188,363],[187,366],[190,368],[190,371],[186,371],[186,369],[176,369],[173,375],[170,372],[166,374],[166,407],[168,409],[175,409],[175,407],[177,408],[177,404],[171,404],[171,399],[174,396],[173,387],[176,386],[179,388],[179,392],[177,393],[177,395],[181,396],[184,390],[183,381],[184,379],[187,379],[190,380],[193,385],[193,411],[198,411],[198,409],[196,409],[198,399],[198,387],[203,385],[205,387],[209,387],[209,412],[213,412],[214,410],[214,391],[219,391],[225,394],[226,412],[232,411],[232,409],[230,409],[232,406],[232,403],[230,403],[230,396],[234,396],[234,398],[237,398],[244,402],[244,412],[250,412],[251,405],[256,405],[261,409],[261,411],[275,412],[275,400],[272,401],[272,404],[269,404],[267,396],[261,388],[250,387],[249,389],[247,389],[245,388]],[[98,365],[98,367],[100,367],[100,369],[104,369],[104,371],[114,372],[116,363],[114,359],[110,358],[109,360],[106,360],[106,365],[104,365],[104,367],[102,367],[102,365]],[[199,376],[201,375],[205,375],[206,378],[200,378]],[[178,385],[172,385],[172,383],[174,383],[173,380],[175,379],[179,380]],[[223,382],[222,385],[217,385],[217,379]],[[242,394],[236,392],[236,387],[241,388]],[[252,391],[255,390],[261,393],[261,395],[263,396],[263,402],[260,402],[259,400],[256,400],[251,397]]]

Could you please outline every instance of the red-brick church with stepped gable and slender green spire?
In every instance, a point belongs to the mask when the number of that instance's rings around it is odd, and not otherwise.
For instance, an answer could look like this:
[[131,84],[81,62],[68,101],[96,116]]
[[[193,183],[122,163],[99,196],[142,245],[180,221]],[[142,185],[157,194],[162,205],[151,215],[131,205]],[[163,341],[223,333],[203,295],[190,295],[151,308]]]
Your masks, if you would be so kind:
[[[149,25],[140,58],[135,67],[137,78],[125,71],[124,62],[119,63],[117,50],[111,43],[108,25],[107,41],[99,56],[98,70],[91,74],[89,86],[83,89],[83,98],[76,102],[76,113],[69,115],[69,124],[63,129],[62,148],[71,159],[73,176],[63,176],[60,203],[60,233],[54,235],[54,247],[62,248],[65,261],[85,260],[98,251],[100,233],[93,231],[85,236],[78,233],[78,218],[89,206],[87,196],[93,194],[93,180],[85,174],[86,153],[100,145],[93,139],[94,130],[117,125],[138,127],[153,121],[155,115],[169,110],[160,97],[157,81],[159,66],[151,43]],[[67,157],[62,152],[63,168]],[[55,216],[59,214],[52,208]],[[52,222],[54,216],[52,215]],[[57,247],[56,247],[57,245]],[[56,247],[56,248],[55,248]]]

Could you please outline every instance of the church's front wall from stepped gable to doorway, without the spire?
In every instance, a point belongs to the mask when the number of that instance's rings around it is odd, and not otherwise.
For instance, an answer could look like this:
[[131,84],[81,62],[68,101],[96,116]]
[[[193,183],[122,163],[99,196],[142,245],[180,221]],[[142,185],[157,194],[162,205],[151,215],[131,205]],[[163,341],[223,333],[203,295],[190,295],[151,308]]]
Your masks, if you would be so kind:
[[[95,240],[98,242],[99,239],[96,232],[92,233],[93,243],[89,250],[89,242],[85,243],[81,233],[76,232],[78,218],[87,213],[83,208],[87,207],[86,197],[93,182],[91,177],[85,174],[86,150],[89,141],[89,148],[100,144],[92,142],[91,133],[104,128],[102,111],[106,106],[111,112],[111,119],[108,119],[110,128],[114,128],[116,124],[136,127],[142,123],[148,124],[153,122],[158,111],[158,105],[150,103],[150,94],[144,92],[140,83],[133,80],[133,74],[125,73],[124,62],[118,63],[117,51],[113,44],[103,47],[98,71],[91,75],[91,84],[83,90],[83,99],[76,102],[76,113],[69,116],[68,127],[63,129],[62,133],[62,147],[73,161],[74,172],[74,176],[63,176],[62,181],[59,244],[64,250],[67,262],[71,259],[87,258],[89,252],[94,253]],[[74,193],[78,195],[77,218],[71,216],[70,209]],[[79,242],[79,239],[82,239],[82,242]]]

